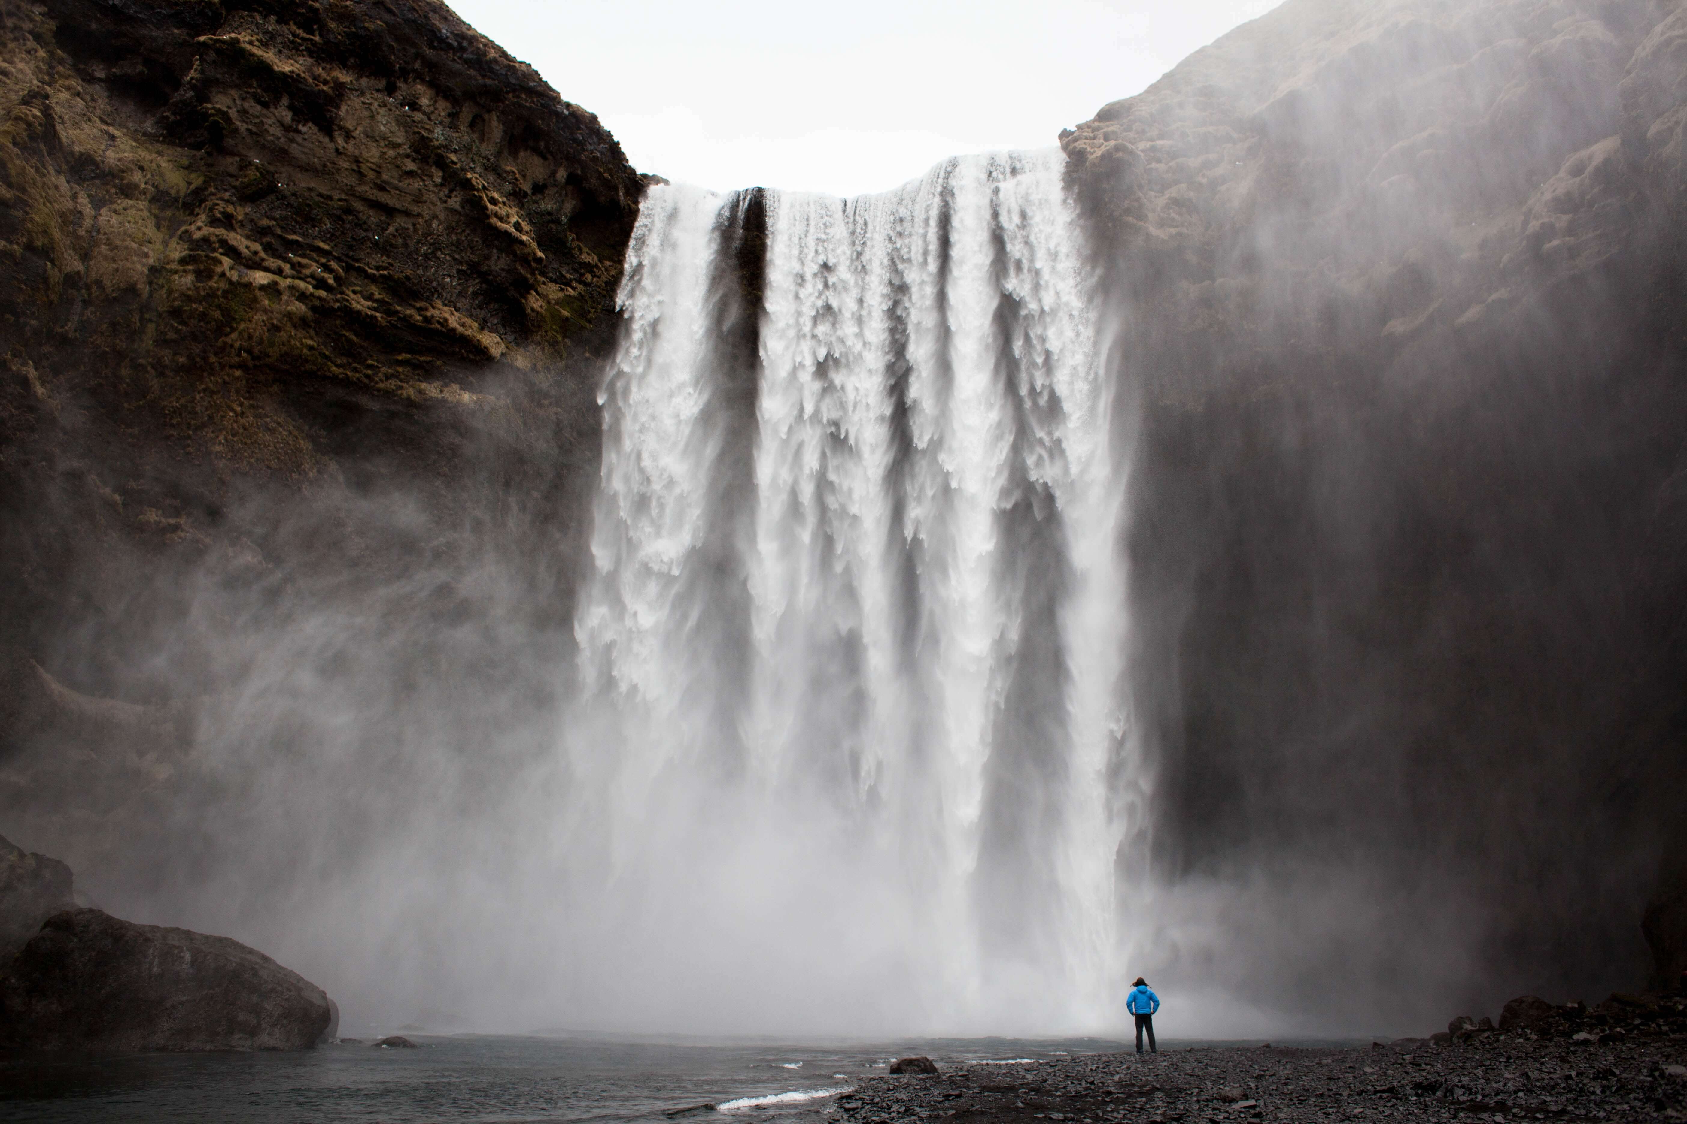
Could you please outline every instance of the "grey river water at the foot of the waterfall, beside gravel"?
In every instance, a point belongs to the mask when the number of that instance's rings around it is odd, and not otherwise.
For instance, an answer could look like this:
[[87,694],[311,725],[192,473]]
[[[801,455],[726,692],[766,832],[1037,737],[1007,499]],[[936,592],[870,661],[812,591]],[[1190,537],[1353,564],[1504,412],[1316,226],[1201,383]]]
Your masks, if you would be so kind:
[[1095,1038],[897,1043],[410,1035],[417,1050],[135,1055],[0,1063],[5,1121],[668,1121],[815,1114],[894,1057],[1016,1067],[1120,1048]]

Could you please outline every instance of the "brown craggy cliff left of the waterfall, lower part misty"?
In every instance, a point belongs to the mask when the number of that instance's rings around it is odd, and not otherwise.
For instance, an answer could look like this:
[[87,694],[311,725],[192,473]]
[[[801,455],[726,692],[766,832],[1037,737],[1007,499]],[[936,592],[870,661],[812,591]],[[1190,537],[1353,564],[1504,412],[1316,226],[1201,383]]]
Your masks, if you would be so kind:
[[641,190],[444,3],[0,5],[12,834],[263,934],[455,762],[498,784],[474,748],[562,681]]

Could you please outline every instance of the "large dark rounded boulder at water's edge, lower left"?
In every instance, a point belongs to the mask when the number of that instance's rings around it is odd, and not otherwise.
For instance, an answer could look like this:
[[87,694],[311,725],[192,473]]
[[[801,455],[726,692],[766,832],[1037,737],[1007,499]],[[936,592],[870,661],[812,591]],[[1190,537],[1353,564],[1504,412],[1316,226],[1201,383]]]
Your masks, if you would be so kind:
[[0,1046],[307,1050],[331,1041],[327,994],[255,949],[186,929],[64,910],[0,974]]

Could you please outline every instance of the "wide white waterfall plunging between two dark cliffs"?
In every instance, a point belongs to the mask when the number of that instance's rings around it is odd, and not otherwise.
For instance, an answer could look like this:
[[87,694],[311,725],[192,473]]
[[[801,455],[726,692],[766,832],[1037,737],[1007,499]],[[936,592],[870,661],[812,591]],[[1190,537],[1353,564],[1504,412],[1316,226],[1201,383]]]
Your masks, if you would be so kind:
[[[565,733],[628,1025],[1117,1021],[1122,460],[1058,152],[649,190]],[[800,1004],[838,1018],[803,1018]]]

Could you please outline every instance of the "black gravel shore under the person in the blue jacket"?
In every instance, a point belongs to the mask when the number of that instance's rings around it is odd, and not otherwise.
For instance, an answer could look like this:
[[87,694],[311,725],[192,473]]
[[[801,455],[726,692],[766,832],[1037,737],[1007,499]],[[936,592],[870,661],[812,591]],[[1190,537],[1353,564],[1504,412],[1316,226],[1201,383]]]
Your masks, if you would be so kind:
[[1679,1121],[1687,1035],[1569,1041],[1478,1035],[1355,1048],[1196,1046],[877,1077],[840,1124],[1070,1121]]

